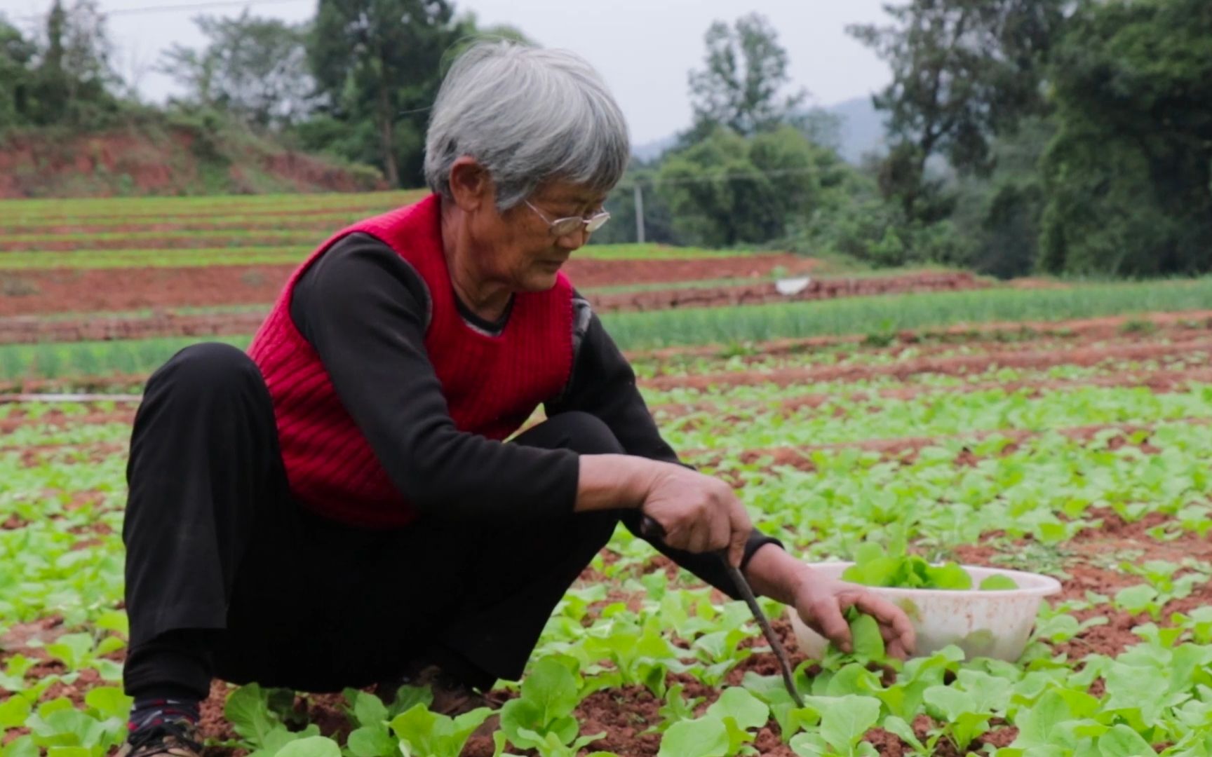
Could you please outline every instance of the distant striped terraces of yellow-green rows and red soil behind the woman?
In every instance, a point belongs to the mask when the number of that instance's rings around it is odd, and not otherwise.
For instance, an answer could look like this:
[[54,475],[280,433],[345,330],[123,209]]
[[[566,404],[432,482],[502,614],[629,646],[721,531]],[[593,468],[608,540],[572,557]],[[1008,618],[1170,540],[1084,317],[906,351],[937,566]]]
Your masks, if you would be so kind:
[[[69,207],[6,202],[0,216],[0,317],[75,312],[92,319],[104,312],[230,305],[264,309],[295,266],[333,231],[423,194],[81,200]],[[638,309],[690,303],[696,297],[690,289],[698,288],[707,289],[697,296],[699,300],[762,302],[771,297],[772,286],[750,291],[744,285],[804,274],[814,265],[784,253],[591,245],[566,270],[584,289],[611,288],[604,296],[614,298],[614,304],[605,309]],[[679,291],[647,293],[630,304],[621,299],[625,292],[619,287],[647,285]],[[229,316],[211,317],[198,328],[233,333]],[[127,326],[132,332],[172,336],[156,328]]]

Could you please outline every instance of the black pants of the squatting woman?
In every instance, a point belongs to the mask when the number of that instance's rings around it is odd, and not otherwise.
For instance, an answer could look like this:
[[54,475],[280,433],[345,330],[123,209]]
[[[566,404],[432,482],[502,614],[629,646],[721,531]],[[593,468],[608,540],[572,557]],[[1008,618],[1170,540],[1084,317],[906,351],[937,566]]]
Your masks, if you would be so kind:
[[[513,443],[622,452],[584,413],[556,415]],[[396,675],[419,654],[461,667],[475,686],[516,679],[619,517],[570,512],[491,529],[422,517],[372,531],[313,515],[287,489],[257,366],[223,344],[187,348],[153,374],[127,481],[132,695],[205,692],[211,676],[333,692]],[[172,672],[171,655],[152,654],[173,648],[166,638],[205,647],[176,648],[205,659],[205,676],[198,666]]]

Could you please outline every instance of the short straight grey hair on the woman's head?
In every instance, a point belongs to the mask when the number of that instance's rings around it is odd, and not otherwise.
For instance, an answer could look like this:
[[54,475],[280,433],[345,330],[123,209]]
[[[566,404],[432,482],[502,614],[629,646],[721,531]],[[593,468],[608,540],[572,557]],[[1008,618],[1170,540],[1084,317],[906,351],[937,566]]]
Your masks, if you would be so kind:
[[470,155],[521,205],[548,180],[607,193],[630,157],[627,122],[598,71],[566,50],[478,42],[442,80],[425,136],[425,182],[451,197],[456,159]]

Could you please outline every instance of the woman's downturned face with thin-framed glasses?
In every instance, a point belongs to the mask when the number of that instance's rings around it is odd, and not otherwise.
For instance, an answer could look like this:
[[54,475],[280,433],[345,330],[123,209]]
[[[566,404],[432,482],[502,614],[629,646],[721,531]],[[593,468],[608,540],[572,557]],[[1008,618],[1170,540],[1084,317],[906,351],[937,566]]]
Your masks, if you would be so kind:
[[490,203],[491,210],[482,218],[487,228],[476,230],[475,236],[480,237],[484,248],[492,251],[490,275],[493,279],[508,282],[515,292],[543,292],[555,286],[560,266],[589,240],[584,226],[555,236],[549,222],[589,218],[601,211],[606,196],[567,182],[550,182],[539,187],[528,200],[530,205],[522,202],[504,213],[498,213]]

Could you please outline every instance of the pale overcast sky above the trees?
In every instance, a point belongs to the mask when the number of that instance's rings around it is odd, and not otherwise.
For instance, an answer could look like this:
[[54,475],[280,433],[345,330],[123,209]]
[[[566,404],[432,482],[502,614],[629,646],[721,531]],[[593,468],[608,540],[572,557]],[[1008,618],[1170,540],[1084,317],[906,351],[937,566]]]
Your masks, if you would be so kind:
[[[112,13],[109,30],[118,47],[118,68],[148,99],[175,92],[172,80],[150,69],[160,52],[181,42],[200,46],[193,23],[199,13],[238,16],[245,5],[122,11],[201,4],[208,0],[98,0]],[[213,0],[210,0],[213,1]],[[605,76],[618,98],[635,144],[667,137],[690,124],[686,75],[701,68],[703,34],[714,19],[734,21],[758,11],[778,31],[790,57],[795,86],[818,105],[864,96],[888,81],[887,67],[846,35],[848,23],[881,21],[884,0],[456,0],[456,10],[474,11],[481,24],[509,23],[547,47],[567,47],[584,56]],[[23,28],[45,15],[51,0],[0,0],[0,11]],[[252,12],[304,21],[316,0],[252,0]]]

